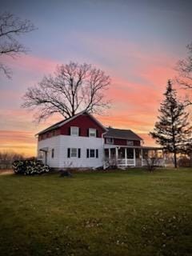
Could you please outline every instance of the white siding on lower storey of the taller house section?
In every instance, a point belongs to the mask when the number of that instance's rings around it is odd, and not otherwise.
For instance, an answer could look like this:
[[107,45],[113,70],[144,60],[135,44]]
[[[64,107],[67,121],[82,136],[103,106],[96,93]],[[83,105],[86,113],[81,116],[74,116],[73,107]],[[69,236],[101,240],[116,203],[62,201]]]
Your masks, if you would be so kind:
[[[38,150],[48,147],[47,164],[54,168],[63,167],[99,167],[103,166],[103,138],[58,135],[38,142]],[[68,148],[81,149],[81,158],[68,158]],[[54,158],[51,150],[54,149]],[[98,158],[86,158],[86,149],[98,150]],[[44,159],[45,162],[45,159]]]

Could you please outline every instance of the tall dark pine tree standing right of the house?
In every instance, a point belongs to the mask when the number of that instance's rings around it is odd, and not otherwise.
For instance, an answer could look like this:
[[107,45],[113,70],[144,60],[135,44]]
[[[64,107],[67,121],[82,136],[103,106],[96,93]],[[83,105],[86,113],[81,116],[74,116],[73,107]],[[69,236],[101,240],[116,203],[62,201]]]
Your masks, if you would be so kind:
[[150,136],[163,147],[166,152],[174,154],[174,167],[177,168],[177,154],[182,153],[190,138],[191,127],[187,121],[185,106],[178,101],[176,90],[170,80],[166,86],[165,99],[162,101],[158,122]]

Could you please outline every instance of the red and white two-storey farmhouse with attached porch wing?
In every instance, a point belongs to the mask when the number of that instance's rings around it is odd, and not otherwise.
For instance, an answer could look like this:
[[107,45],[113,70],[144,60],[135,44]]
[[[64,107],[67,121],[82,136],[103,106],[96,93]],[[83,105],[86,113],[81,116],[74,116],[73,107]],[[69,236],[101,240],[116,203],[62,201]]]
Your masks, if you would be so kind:
[[93,115],[82,111],[57,122],[38,136],[38,159],[53,168],[144,166],[145,156],[159,148],[142,146],[132,130],[106,128]]

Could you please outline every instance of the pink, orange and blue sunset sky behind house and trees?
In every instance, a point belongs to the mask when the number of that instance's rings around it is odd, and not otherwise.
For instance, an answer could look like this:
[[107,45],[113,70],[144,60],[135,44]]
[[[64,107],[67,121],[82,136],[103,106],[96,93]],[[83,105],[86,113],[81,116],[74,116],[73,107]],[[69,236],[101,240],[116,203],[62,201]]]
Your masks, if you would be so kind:
[[[28,54],[0,57],[13,71],[0,74],[0,150],[36,154],[35,134],[62,120],[55,115],[40,124],[21,108],[27,87],[54,74],[70,61],[90,63],[110,75],[106,97],[112,100],[105,126],[131,129],[146,146],[157,121],[168,79],[192,42],[192,2],[177,0],[1,1],[1,12],[30,19],[38,29],[19,38]],[[178,88],[178,95],[184,92]]]

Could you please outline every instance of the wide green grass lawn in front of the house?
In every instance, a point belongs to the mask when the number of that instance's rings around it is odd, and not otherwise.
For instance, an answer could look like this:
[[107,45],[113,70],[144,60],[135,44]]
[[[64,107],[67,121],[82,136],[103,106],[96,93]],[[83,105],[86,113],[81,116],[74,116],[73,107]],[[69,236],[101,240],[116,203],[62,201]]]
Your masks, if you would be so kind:
[[192,170],[0,175],[0,255],[192,255]]

